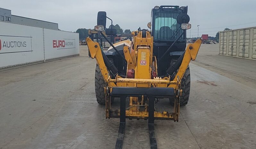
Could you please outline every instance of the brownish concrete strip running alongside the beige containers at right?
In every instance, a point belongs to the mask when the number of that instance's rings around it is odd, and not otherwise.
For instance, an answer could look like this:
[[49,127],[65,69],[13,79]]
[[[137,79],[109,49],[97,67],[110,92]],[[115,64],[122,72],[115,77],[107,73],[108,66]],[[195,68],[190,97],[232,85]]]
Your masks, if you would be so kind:
[[202,44],[193,64],[256,87],[256,60],[240,59],[218,55],[219,44]]

